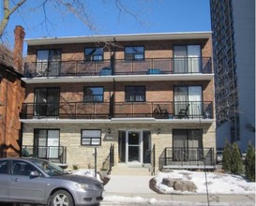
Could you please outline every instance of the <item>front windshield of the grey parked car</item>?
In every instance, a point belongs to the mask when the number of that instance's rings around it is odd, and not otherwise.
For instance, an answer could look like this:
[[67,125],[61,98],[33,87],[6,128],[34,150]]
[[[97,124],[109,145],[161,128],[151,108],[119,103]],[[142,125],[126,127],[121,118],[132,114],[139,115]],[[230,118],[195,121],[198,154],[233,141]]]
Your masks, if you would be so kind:
[[54,165],[51,162],[40,160],[40,159],[35,159],[33,162],[44,172],[46,172],[49,176],[57,176],[57,175],[62,175],[67,173],[64,171],[64,169],[61,169],[60,167]]

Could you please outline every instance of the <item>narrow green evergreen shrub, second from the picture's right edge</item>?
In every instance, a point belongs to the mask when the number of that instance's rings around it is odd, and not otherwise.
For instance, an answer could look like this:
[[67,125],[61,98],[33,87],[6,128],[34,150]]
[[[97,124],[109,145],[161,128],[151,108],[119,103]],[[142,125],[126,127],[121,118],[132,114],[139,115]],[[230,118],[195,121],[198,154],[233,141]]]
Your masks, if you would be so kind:
[[232,145],[232,153],[231,153],[231,172],[233,174],[242,174],[243,173],[243,161],[241,158],[241,154],[236,143]]

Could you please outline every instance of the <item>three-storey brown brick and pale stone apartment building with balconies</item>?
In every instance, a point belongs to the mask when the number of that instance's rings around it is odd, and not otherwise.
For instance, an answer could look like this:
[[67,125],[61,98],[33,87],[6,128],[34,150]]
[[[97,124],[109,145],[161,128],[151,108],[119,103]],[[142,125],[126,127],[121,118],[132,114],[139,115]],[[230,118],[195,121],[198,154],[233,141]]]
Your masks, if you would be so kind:
[[209,32],[26,39],[23,148],[70,169],[93,168],[96,148],[98,169],[213,168],[211,42]]

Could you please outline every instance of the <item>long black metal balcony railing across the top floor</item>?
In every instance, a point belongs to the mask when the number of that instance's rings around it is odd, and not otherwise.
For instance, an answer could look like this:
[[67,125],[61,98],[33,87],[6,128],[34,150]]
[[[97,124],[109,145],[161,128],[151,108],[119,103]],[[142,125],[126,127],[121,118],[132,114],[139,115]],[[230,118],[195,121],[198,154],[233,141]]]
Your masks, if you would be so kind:
[[143,61],[104,60],[98,62],[51,61],[24,65],[24,77],[65,77],[105,75],[150,75],[212,73],[210,57],[144,59]]

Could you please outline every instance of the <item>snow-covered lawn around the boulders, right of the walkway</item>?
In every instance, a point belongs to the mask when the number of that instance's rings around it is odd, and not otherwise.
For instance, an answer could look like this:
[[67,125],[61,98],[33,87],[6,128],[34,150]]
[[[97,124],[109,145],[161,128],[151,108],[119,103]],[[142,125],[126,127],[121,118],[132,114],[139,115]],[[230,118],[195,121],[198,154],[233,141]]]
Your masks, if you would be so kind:
[[255,183],[248,182],[240,175],[206,172],[205,176],[203,171],[173,170],[168,173],[160,172],[156,176],[157,187],[163,193],[191,194],[191,192],[175,191],[173,187],[161,184],[163,178],[191,181],[197,186],[197,194],[206,193],[206,182],[209,194],[253,194],[255,192]]

